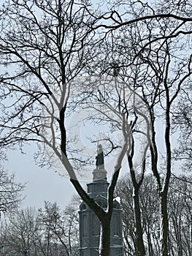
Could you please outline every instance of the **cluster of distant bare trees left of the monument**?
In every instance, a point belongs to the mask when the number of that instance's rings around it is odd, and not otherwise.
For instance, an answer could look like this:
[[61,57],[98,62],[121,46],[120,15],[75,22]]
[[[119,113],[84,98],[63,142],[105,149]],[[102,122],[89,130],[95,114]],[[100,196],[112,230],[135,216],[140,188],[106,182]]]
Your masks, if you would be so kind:
[[1,229],[2,255],[78,255],[77,206],[71,203],[61,211],[56,203],[45,202],[38,211],[13,212]]

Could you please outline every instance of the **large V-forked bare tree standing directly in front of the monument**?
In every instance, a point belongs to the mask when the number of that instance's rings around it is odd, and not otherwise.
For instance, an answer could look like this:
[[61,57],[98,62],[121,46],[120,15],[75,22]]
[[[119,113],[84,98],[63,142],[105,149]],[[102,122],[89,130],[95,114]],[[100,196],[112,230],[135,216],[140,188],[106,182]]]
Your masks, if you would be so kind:
[[115,165],[108,211],[104,211],[77,179],[67,155],[66,132],[71,83],[82,74],[88,59],[86,48],[94,36],[93,25],[100,19],[88,1],[12,0],[4,5],[0,37],[1,146],[22,148],[34,141],[42,145],[37,154],[42,164],[52,164],[56,161],[52,157],[58,157],[79,195],[100,219],[100,255],[107,256],[113,191],[127,144]]

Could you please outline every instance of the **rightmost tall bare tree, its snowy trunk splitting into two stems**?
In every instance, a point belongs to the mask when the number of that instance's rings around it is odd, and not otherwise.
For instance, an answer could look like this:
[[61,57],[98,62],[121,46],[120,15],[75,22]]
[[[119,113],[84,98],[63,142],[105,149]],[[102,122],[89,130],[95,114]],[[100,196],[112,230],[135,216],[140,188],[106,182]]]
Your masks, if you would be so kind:
[[[162,23],[164,23],[163,28]],[[159,40],[159,36],[156,37],[153,34],[153,26],[156,29],[158,28],[158,33],[161,34],[161,40]],[[172,39],[172,34],[181,26],[183,26],[183,23],[177,22],[176,20],[169,21],[163,19],[161,20],[161,25],[152,21],[150,25],[145,26],[145,31],[142,30],[142,26],[132,28],[132,34],[138,35],[138,37],[131,37],[132,45],[135,45],[134,50],[137,50],[133,55],[134,64],[138,68],[131,69],[134,70],[134,76],[129,75],[130,72],[127,75],[129,80],[133,78],[132,85],[141,95],[150,113],[152,131],[150,145],[151,167],[158,184],[159,199],[161,202],[160,238],[162,255],[169,255],[167,200],[172,170],[172,150],[174,148],[171,144],[171,131],[174,130],[174,125],[171,122],[172,113],[174,113],[174,102],[180,100],[179,95],[183,93],[183,89],[187,88],[188,83],[191,83],[191,51],[186,56],[183,48],[183,37],[177,37],[176,40]],[[188,33],[191,33],[191,26],[185,27],[188,29]],[[147,37],[147,31],[150,34],[150,38]],[[171,34],[169,39],[166,39],[166,33]],[[151,40],[152,37],[156,38]],[[128,41],[126,38],[124,42],[126,40]],[[185,42],[187,42],[187,38],[185,38]],[[185,48],[187,47],[189,45],[185,44]],[[125,49],[125,53],[129,54],[127,60],[130,60],[130,48],[128,52]],[[180,54],[179,59],[177,58],[178,53]],[[125,63],[125,60],[123,61]],[[122,67],[124,66],[125,64],[122,64]],[[161,135],[158,129],[159,124],[165,124],[163,135]],[[162,141],[164,140],[165,151],[163,152],[158,143],[159,138]],[[163,155],[166,161],[166,165],[163,168],[159,165],[159,155]],[[164,173],[163,179],[161,178],[162,171]]]

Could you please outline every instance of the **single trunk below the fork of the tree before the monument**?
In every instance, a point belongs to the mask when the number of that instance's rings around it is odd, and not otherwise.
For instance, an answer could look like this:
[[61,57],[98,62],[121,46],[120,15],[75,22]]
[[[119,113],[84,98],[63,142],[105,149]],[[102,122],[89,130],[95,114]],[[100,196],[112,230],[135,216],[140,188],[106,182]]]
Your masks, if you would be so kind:
[[110,256],[110,218],[101,221],[99,256]]

